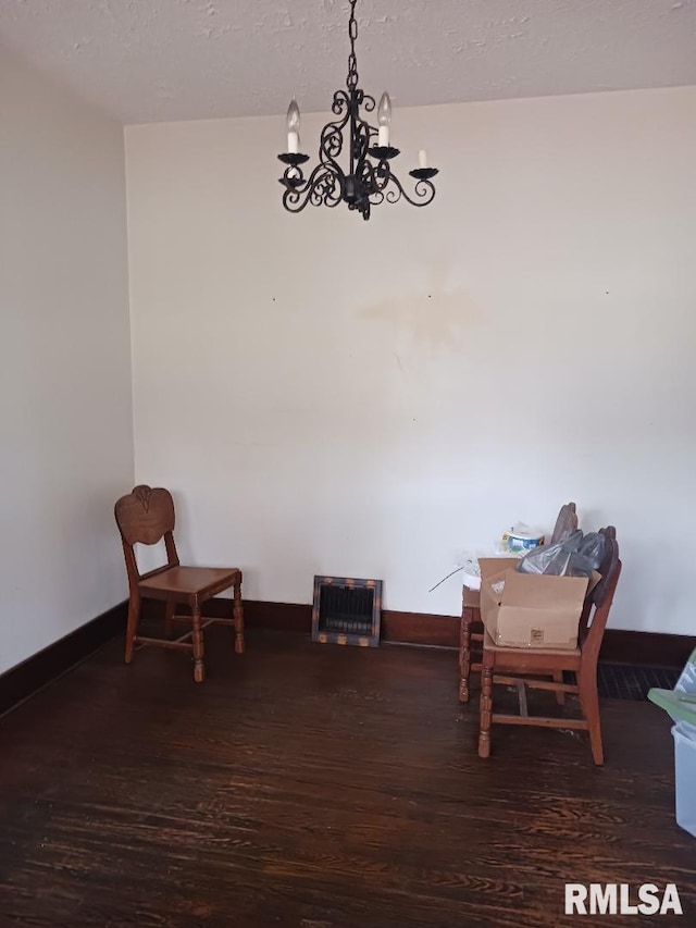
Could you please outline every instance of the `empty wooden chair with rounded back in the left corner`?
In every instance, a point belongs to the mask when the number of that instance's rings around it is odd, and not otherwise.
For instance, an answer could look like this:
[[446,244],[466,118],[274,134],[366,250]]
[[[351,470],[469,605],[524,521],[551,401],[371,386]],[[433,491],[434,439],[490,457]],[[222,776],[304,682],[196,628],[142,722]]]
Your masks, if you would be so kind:
[[[121,532],[123,553],[128,574],[128,623],[126,627],[126,664],[133,659],[136,644],[159,645],[177,651],[189,651],[194,655],[194,680],[202,683],[203,629],[216,622],[234,626],[235,651],[244,653],[244,613],[241,606],[241,571],[236,567],[182,567],[174,544],[174,500],[167,490],[140,485],[127,496],[122,496],[114,507],[116,524]],[[164,539],[166,564],[140,573],[135,557],[136,543],[153,545]],[[203,603],[222,593],[234,590],[232,619],[202,619]],[[142,599],[160,599],[165,603],[166,639],[138,635],[140,603]],[[187,605],[190,616],[178,615],[177,605]],[[192,629],[171,641],[173,622],[192,624]]]

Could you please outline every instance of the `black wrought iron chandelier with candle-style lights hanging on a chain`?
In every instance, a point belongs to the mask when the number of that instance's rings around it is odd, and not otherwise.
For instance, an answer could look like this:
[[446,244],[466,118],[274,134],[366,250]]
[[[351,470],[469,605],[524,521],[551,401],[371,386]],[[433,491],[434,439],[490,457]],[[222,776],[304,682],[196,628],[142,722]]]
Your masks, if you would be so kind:
[[[419,166],[409,171],[415,181],[411,195],[407,194],[391,171],[390,162],[397,157],[399,149],[389,145],[389,95],[383,94],[377,107],[378,128],[371,126],[360,114],[361,108],[371,113],[376,104],[374,97],[358,87],[357,2],[358,0],[350,0],[347,89],[336,90],[334,94],[332,112],[336,119],[322,129],[319,164],[308,177],[302,172],[302,164],[309,161],[309,156],[299,150],[299,107],[296,100],[288,107],[287,151],[278,154],[278,158],[287,165],[281,184],[285,187],[283,206],[290,212],[300,212],[308,203],[313,207],[336,207],[345,202],[348,209],[358,210],[363,219],[370,219],[372,207],[385,200],[395,203],[403,197],[411,206],[424,207],[432,202],[435,196],[433,177],[437,174],[437,169],[428,168],[425,151],[419,152]],[[344,159],[348,161],[347,172],[338,163],[344,152],[348,156]]]

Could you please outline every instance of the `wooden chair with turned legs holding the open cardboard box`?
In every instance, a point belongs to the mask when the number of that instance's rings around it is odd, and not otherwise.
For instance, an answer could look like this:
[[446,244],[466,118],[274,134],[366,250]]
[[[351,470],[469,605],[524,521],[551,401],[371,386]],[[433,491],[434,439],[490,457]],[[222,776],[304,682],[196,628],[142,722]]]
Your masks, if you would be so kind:
[[[572,651],[542,648],[499,647],[484,634],[483,675],[481,690],[481,729],[478,756],[490,753],[492,725],[536,725],[550,728],[581,729],[589,732],[592,756],[597,765],[604,764],[601,723],[597,696],[597,659],[607,627],[607,618],[621,573],[619,544],[616,529],[602,529],[606,540],[605,557],[600,567],[601,579],[585,602],[580,619],[579,645]],[[591,621],[592,620],[592,621]],[[502,671],[502,672],[500,672]],[[576,682],[563,683],[539,679],[549,671],[571,671]],[[561,677],[562,680],[562,677]],[[494,683],[517,686],[520,714],[506,715],[493,710]],[[556,693],[576,693],[580,696],[582,718],[532,716],[527,712],[526,688],[551,690]]]

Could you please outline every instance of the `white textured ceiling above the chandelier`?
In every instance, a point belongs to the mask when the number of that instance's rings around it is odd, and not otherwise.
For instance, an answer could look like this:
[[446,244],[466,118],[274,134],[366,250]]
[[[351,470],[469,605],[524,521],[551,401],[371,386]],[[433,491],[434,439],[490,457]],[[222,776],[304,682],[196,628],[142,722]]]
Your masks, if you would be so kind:
[[[123,122],[326,111],[346,0],[0,0],[0,44]],[[398,106],[696,84],[696,0],[359,0]],[[0,51],[1,53],[1,51]]]

